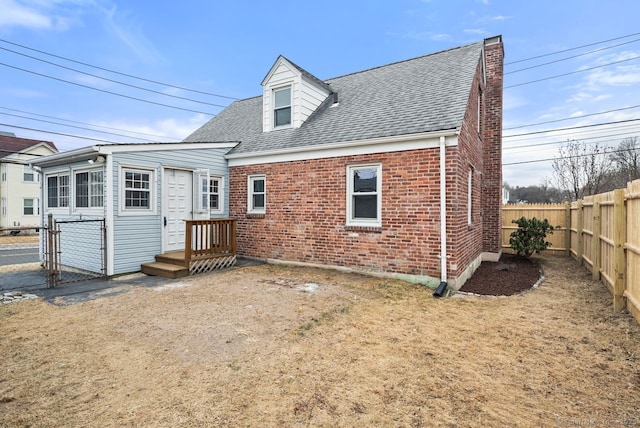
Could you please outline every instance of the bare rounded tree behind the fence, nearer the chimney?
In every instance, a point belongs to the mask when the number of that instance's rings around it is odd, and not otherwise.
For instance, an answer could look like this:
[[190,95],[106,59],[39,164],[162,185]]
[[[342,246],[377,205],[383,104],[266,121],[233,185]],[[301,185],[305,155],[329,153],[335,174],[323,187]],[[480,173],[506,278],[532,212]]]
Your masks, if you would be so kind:
[[557,187],[569,192],[573,200],[603,191],[613,170],[604,147],[569,140],[558,152],[552,164]]

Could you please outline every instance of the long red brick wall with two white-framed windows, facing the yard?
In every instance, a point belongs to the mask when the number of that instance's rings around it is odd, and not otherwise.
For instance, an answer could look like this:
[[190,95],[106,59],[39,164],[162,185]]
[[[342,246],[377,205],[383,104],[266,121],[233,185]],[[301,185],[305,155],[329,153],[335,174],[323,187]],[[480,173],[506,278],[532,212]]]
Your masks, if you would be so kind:
[[[447,149],[451,172],[454,152]],[[346,227],[347,165],[374,162],[382,164],[382,227]],[[266,175],[264,216],[247,215],[249,174]],[[440,276],[437,148],[231,167],[230,184],[239,254]]]

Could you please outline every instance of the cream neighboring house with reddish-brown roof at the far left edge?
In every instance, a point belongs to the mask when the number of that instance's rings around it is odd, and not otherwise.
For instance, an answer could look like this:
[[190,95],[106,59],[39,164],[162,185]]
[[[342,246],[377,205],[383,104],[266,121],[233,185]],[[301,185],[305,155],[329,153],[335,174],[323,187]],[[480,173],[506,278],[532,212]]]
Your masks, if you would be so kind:
[[57,151],[50,141],[0,133],[0,229],[41,225],[40,176],[29,162]]

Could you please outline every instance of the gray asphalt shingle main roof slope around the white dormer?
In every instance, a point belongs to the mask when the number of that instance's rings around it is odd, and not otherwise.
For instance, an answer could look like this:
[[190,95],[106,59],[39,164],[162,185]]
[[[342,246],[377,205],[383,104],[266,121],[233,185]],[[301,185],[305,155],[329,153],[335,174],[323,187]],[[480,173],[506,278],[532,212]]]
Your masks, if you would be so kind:
[[482,42],[328,79],[328,99],[300,128],[262,130],[262,96],[232,103],[185,142],[240,141],[230,153],[458,129]]

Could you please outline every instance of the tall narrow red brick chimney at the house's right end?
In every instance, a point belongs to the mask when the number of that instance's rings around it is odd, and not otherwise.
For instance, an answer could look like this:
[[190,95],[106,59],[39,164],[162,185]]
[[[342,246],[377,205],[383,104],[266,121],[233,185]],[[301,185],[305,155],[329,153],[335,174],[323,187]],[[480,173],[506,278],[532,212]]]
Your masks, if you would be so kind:
[[[485,260],[499,257],[502,249],[502,36],[484,41],[486,84],[484,92],[484,177],[482,181],[482,251]],[[487,254],[488,253],[488,254]]]

